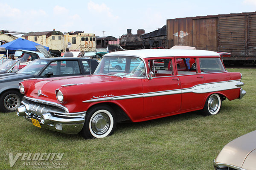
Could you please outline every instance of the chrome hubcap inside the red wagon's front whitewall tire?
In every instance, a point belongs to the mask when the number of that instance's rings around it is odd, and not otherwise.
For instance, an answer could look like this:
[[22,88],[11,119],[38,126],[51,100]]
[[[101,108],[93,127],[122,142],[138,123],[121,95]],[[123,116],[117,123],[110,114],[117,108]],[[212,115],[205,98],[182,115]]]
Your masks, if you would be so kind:
[[91,128],[94,133],[101,135],[108,131],[110,119],[106,113],[96,114],[91,122]]

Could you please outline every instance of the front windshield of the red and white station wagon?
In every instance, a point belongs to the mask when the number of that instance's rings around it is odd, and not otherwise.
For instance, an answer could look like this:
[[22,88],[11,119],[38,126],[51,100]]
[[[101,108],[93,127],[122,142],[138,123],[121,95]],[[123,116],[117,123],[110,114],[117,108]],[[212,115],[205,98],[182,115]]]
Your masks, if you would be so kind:
[[145,77],[145,65],[137,57],[103,57],[94,74],[106,74],[119,77]]

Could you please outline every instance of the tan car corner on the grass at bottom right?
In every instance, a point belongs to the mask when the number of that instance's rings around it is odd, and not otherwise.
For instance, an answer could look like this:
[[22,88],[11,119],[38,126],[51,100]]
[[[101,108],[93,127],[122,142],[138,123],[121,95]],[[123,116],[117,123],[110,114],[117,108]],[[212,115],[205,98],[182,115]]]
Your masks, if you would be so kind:
[[213,164],[215,170],[256,170],[256,130],[229,142]]

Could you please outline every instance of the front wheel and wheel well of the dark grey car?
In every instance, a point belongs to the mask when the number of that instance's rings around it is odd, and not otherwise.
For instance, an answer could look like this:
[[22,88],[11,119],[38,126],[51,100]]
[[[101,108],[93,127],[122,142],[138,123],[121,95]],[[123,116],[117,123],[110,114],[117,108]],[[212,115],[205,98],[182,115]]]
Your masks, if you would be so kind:
[[0,111],[13,112],[20,106],[23,95],[19,91],[6,91],[0,96]]

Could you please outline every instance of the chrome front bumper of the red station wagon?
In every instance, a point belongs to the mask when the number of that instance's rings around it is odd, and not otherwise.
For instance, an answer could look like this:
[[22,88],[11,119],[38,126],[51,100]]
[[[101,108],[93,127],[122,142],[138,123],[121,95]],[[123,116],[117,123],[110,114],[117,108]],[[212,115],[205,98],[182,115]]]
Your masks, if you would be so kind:
[[37,119],[42,128],[72,134],[79,133],[84,126],[85,112],[66,113],[53,106],[24,100],[22,104],[16,110],[17,116],[23,116],[29,122],[32,118]]

